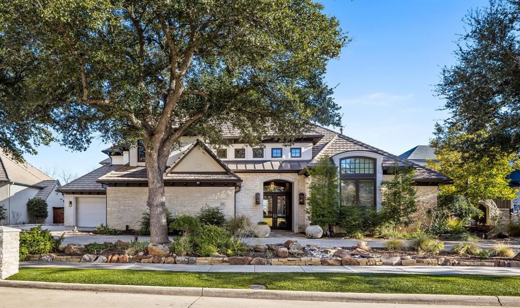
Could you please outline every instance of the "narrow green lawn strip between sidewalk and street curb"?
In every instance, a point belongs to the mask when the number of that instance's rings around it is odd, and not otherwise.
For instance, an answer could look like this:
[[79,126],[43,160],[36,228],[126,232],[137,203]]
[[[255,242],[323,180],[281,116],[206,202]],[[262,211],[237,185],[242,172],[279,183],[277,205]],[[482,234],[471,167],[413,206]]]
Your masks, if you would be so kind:
[[490,275],[188,273],[21,267],[18,274],[8,279],[232,289],[263,284],[271,290],[520,296],[520,277]]

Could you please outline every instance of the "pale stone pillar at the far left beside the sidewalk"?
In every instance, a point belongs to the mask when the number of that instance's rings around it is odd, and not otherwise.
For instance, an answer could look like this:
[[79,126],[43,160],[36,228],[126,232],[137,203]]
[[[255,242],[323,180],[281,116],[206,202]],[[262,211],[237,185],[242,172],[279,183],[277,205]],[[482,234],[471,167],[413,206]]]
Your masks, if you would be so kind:
[[0,279],[18,273],[20,229],[0,226]]

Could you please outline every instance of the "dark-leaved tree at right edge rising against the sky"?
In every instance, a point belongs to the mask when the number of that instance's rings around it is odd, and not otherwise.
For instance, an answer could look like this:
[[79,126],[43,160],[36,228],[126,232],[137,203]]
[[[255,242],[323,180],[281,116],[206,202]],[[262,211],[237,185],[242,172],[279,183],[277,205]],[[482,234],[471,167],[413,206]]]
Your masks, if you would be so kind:
[[[451,117],[437,127],[443,141],[453,132],[483,138],[458,139],[454,150],[479,159],[517,153],[520,146],[520,2],[491,0],[464,18],[466,34],[454,51],[457,64],[443,68],[437,86]],[[488,152],[487,149],[497,151]]]

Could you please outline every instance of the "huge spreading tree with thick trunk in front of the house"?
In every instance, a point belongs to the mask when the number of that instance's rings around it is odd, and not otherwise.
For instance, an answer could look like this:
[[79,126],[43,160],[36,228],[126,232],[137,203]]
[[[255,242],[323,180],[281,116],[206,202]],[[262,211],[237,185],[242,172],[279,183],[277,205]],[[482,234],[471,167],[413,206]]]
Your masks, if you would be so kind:
[[2,2],[0,65],[17,93],[2,103],[13,123],[34,121],[2,142],[20,156],[52,130],[74,150],[95,132],[118,145],[142,140],[151,242],[167,242],[163,175],[181,136],[224,145],[229,124],[250,145],[266,135],[290,143],[311,122],[340,124],[323,76],[348,40],[322,9],[310,0]]

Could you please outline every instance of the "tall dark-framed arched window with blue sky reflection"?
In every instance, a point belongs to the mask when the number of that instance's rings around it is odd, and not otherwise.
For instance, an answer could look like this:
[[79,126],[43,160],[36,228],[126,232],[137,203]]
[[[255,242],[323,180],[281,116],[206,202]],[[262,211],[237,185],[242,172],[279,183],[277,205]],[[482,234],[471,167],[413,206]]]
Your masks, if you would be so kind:
[[340,160],[341,205],[375,205],[375,159],[349,157]]

